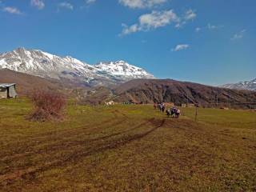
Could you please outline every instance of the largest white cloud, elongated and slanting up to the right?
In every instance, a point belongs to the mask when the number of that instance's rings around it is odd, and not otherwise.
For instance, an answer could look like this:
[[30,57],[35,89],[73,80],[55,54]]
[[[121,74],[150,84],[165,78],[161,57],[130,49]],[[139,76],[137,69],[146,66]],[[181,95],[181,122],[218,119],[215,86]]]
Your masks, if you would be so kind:
[[179,22],[177,14],[173,10],[152,11],[150,14],[142,14],[138,18],[138,23],[127,26],[122,24],[123,30],[121,35],[131,34],[138,31],[153,30],[158,27],[167,26],[171,22]]

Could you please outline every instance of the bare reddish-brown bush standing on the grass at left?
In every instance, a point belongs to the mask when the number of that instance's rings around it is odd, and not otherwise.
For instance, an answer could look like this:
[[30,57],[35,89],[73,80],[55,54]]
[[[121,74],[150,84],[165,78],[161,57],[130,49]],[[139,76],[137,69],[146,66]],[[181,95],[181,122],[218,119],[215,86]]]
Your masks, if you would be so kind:
[[30,98],[34,104],[34,111],[30,114],[30,120],[44,122],[63,118],[66,100],[62,94],[52,91],[35,90]]

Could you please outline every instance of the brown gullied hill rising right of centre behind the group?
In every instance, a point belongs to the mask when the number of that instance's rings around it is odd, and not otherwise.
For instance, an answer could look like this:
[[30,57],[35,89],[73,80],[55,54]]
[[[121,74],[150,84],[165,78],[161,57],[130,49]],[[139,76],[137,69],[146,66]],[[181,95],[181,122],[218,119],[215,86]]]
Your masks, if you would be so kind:
[[[121,86],[116,86],[112,90],[106,91],[106,88],[102,88],[92,93],[90,97],[87,97],[88,101],[98,102],[106,99],[126,102],[132,99],[134,102],[174,102],[176,104],[189,102],[202,106],[215,106],[217,100],[218,105],[224,106],[228,106],[229,102],[233,106],[238,106],[239,103],[256,101],[256,92],[254,91],[230,90],[170,79],[134,79]],[[242,106],[246,106],[246,104],[242,104]]]

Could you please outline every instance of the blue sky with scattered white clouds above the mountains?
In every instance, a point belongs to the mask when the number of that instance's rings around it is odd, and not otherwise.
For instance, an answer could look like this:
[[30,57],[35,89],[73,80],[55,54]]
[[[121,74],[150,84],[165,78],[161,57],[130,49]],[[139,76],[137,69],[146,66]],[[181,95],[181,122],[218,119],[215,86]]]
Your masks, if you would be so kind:
[[254,0],[0,0],[0,52],[125,60],[158,78],[256,78]]

